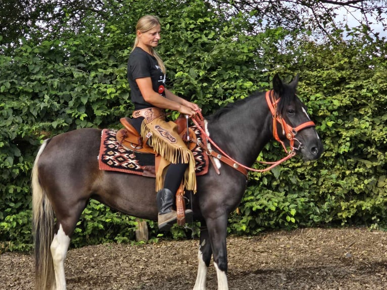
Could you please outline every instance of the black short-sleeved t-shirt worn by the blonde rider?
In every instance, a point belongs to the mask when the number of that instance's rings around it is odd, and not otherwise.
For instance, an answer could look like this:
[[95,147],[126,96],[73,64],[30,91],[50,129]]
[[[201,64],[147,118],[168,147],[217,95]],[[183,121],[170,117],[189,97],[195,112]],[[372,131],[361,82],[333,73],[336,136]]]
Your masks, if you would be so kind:
[[130,53],[128,60],[128,81],[131,90],[131,100],[134,109],[155,107],[147,103],[136,83],[137,78],[150,77],[152,79],[153,90],[165,98],[165,74],[159,67],[155,57],[143,51],[140,47]]

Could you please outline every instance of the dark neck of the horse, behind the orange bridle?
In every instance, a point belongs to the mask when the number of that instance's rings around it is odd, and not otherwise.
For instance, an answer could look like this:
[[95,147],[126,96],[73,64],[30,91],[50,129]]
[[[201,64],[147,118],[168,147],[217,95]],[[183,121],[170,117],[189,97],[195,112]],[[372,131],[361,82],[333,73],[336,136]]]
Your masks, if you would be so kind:
[[256,97],[211,119],[210,137],[236,161],[251,166],[271,139],[271,116],[264,98]]

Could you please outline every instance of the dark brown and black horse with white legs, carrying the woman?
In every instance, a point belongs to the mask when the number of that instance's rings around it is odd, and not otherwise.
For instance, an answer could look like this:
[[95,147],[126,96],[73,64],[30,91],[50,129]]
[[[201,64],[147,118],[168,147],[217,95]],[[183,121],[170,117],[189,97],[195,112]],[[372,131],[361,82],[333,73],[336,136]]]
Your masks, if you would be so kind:
[[[270,90],[274,113],[265,100],[267,92],[255,92],[206,117],[206,134],[244,166],[256,162],[265,144],[273,138],[273,129],[285,146],[293,143],[292,151],[304,160],[318,159],[323,152],[322,142],[306,106],[296,95],[298,80],[297,75],[292,82],[283,83],[276,74]],[[292,138],[283,124],[276,121],[278,118],[293,128]],[[302,126],[305,123],[309,125]],[[100,170],[100,142],[101,129],[82,128],[46,139],[38,150],[31,174],[37,289],[66,289],[64,263],[70,238],[89,199],[127,215],[157,220],[155,180]],[[198,272],[193,287],[196,290],[206,288],[211,256],[218,289],[228,289],[227,219],[247,186],[245,174],[216,161],[207,174],[197,177],[197,192],[190,197],[193,219],[201,222]]]

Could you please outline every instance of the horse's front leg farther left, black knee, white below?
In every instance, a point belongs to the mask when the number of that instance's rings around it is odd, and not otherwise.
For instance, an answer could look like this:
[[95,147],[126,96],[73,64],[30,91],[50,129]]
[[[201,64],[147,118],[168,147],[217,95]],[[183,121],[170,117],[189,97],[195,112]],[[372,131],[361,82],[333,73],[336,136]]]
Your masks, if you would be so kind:
[[[202,226],[205,226],[202,223]],[[206,289],[206,282],[207,282],[207,269],[210,265],[211,261],[211,244],[210,239],[208,237],[208,231],[207,228],[202,229],[200,231],[200,245],[199,245],[199,252],[198,252],[198,275],[196,277],[195,286],[193,286],[193,290],[205,290]]]

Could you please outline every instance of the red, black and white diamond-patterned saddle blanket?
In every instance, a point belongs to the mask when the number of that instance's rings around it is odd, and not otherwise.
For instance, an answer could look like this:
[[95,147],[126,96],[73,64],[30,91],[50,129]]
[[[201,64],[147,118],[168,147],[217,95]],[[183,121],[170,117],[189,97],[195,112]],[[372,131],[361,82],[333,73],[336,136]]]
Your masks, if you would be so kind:
[[[202,141],[200,130],[196,126],[191,127],[191,129],[197,135],[198,141]],[[144,170],[147,167],[155,166],[155,155],[139,153],[123,147],[117,140],[116,134],[117,130],[115,129],[102,130],[98,156],[100,169],[149,176]],[[205,175],[208,172],[208,155],[199,146],[196,146],[192,153],[195,157],[196,175]]]

